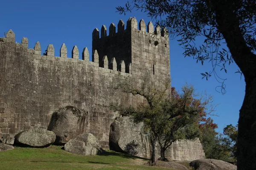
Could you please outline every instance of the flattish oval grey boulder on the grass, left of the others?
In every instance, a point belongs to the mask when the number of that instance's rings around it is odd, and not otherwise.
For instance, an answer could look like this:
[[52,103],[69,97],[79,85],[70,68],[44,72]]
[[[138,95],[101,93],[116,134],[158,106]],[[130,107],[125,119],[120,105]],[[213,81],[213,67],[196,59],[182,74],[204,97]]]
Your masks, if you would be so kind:
[[55,133],[49,130],[25,130],[15,136],[15,143],[30,147],[47,147],[55,141]]

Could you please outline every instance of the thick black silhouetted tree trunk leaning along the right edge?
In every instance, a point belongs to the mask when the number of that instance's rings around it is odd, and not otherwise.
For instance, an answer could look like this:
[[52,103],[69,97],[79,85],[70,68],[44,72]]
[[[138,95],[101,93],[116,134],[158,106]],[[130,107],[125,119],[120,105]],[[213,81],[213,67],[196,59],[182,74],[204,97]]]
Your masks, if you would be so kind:
[[237,170],[256,170],[256,55],[241,34],[233,1],[210,1],[215,8],[218,29],[245,78],[245,96],[238,121]]

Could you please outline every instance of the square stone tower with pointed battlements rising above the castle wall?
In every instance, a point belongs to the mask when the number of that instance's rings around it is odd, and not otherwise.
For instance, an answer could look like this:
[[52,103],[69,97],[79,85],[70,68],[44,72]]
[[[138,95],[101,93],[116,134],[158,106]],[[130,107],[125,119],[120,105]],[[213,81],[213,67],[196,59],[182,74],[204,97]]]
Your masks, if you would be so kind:
[[[100,34],[100,36],[99,36]],[[170,78],[169,37],[166,28],[154,26],[152,22],[147,25],[140,20],[139,29],[135,17],[129,18],[125,24],[119,20],[116,26],[111,23],[109,34],[106,26],[102,26],[101,32],[97,28],[93,31],[93,51],[99,54],[99,66],[103,67],[104,60],[108,58],[109,68],[113,57],[116,60],[117,71],[123,71],[140,76],[148,71],[152,75]],[[93,62],[96,59],[93,58]],[[111,69],[111,68],[110,68]],[[124,71],[123,71],[124,72]]]

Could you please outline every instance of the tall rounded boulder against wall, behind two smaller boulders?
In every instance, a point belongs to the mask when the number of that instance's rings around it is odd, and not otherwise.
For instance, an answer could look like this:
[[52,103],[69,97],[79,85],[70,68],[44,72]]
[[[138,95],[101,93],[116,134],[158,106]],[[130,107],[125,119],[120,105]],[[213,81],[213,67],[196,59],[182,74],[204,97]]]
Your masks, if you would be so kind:
[[60,108],[52,114],[47,130],[56,134],[55,144],[64,145],[70,139],[85,133],[88,124],[88,113],[73,106]]

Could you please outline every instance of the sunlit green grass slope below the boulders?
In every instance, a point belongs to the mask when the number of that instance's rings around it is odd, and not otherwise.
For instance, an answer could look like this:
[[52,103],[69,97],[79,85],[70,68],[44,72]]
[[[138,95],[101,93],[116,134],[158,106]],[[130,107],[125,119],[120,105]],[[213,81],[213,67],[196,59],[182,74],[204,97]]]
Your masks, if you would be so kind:
[[[66,152],[62,146],[15,147],[0,152],[0,170],[162,170],[145,166],[148,160],[108,151],[104,155],[82,156]],[[170,170],[170,169],[169,169]]]

